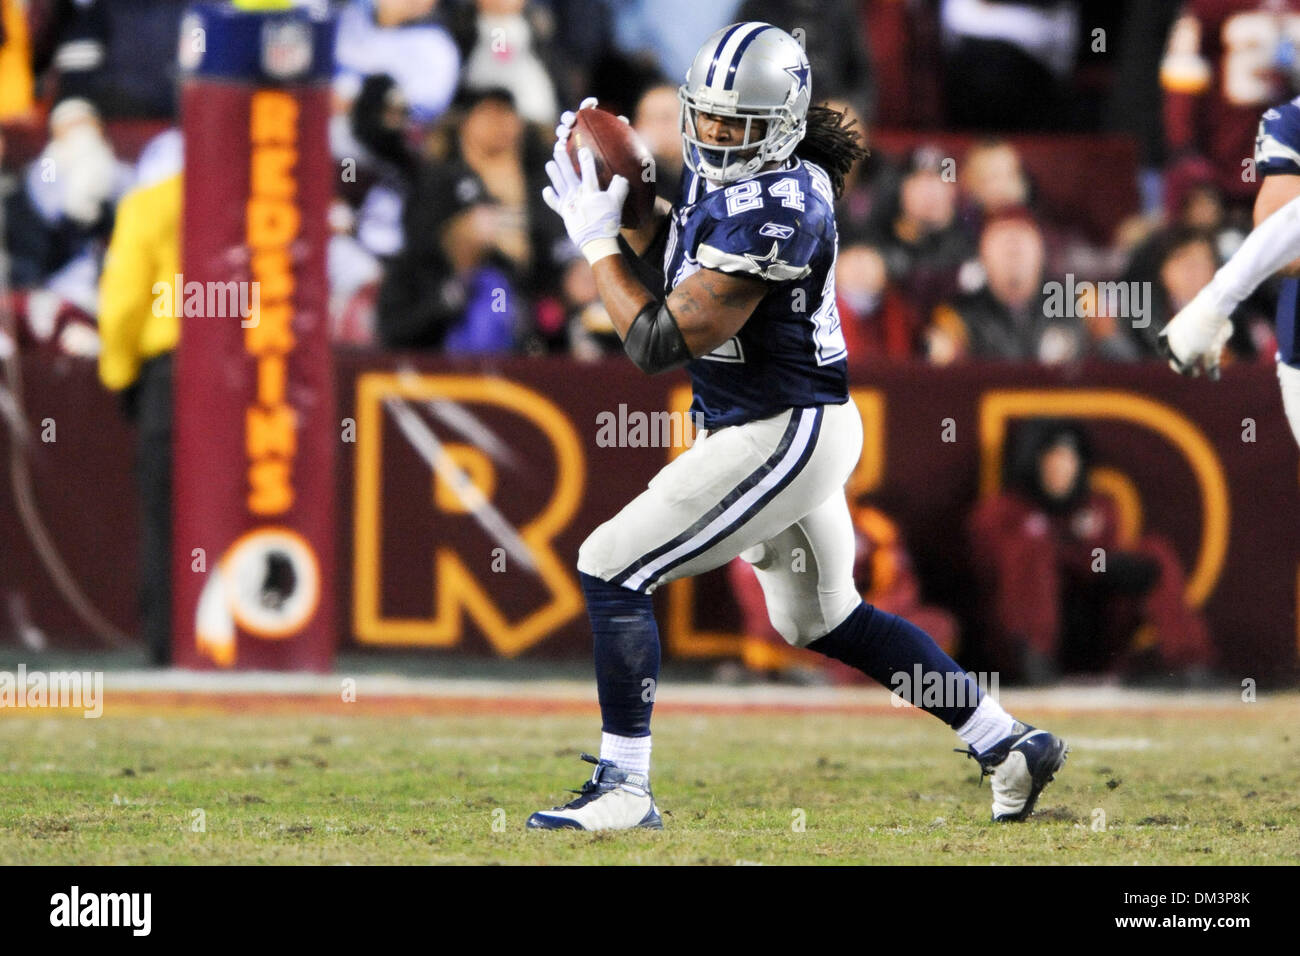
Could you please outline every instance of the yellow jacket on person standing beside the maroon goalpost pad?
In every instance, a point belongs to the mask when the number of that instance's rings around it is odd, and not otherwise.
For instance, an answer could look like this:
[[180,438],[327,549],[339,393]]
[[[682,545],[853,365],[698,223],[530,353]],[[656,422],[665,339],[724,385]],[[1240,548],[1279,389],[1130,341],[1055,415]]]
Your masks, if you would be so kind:
[[114,392],[179,338],[172,286],[181,272],[181,195],[177,173],[133,189],[117,204],[99,280],[99,378]]

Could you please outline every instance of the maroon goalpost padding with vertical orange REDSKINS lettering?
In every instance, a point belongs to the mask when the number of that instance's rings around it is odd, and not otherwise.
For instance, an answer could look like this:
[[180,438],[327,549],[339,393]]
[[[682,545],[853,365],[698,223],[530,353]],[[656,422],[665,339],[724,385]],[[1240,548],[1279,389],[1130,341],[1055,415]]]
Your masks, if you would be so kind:
[[[296,103],[296,126],[277,122],[273,142],[252,143],[254,98],[290,94]],[[329,670],[337,633],[332,598],[334,450],[339,436],[325,277],[332,189],[329,90],[304,86],[273,94],[238,83],[191,79],[182,91],[182,112],[188,144],[181,243],[186,287],[191,282],[259,282],[261,315],[257,326],[248,329],[238,315],[186,315],[181,320],[174,372],[174,659],[182,666],[212,666],[195,646],[202,591],[242,536],[274,525],[309,542],[318,562],[322,597],[292,635],[255,639],[240,628],[235,666]],[[264,124],[270,127],[269,121]],[[261,196],[254,193],[259,177],[252,176],[252,157],[259,150],[291,155],[291,163],[269,166],[269,174],[268,166],[261,166]],[[256,238],[250,228],[254,198],[274,202],[276,208],[291,204],[298,217],[292,238],[270,247],[269,255],[263,250],[264,255],[257,256],[259,250],[250,248]],[[286,274],[281,260],[291,287],[276,278]],[[287,352],[282,351],[283,337],[266,345],[266,330],[280,328],[272,313],[286,304],[292,332]],[[283,356],[287,381],[283,394],[276,394],[270,403],[261,386],[278,376],[263,376],[257,350]],[[250,415],[278,414],[286,407],[296,421],[294,450],[286,454],[281,446],[274,451],[254,449]],[[252,503],[252,455],[257,460],[289,462],[291,502],[273,502],[274,510]],[[207,574],[191,568],[195,548],[207,554]]]

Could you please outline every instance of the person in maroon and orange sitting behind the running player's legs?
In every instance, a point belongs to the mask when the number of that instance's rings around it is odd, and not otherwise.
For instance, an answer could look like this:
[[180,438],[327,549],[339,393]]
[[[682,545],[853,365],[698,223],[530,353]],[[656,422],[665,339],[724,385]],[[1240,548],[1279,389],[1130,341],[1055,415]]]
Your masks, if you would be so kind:
[[[957,618],[942,607],[922,602],[920,583],[897,523],[884,511],[853,498],[849,499],[849,510],[853,512],[855,544],[853,581],[862,598],[889,614],[905,615],[933,637],[944,653],[956,653],[961,636]],[[762,555],[750,557],[763,559]],[[772,627],[763,588],[754,574],[754,566],[745,558],[736,558],[727,566],[727,580],[741,611],[745,637],[741,641],[738,667],[724,665],[719,669],[720,680],[867,683],[861,671],[848,665],[785,643]]]

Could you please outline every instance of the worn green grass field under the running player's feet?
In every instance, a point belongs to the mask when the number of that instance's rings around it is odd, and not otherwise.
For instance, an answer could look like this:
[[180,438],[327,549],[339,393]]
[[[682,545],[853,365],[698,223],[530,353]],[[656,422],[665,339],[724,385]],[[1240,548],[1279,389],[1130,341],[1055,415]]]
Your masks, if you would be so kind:
[[915,711],[660,708],[666,830],[630,834],[524,830],[590,769],[588,713],[9,711],[0,864],[1300,862],[1300,697],[1227,700],[1018,713],[1071,744],[1019,826]]

